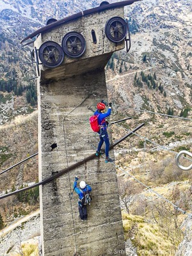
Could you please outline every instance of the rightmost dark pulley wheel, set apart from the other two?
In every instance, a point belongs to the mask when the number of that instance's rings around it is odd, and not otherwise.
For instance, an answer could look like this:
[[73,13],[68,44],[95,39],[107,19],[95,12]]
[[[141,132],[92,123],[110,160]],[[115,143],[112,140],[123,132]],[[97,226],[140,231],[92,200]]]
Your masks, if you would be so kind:
[[122,42],[127,35],[127,23],[121,17],[113,17],[106,22],[105,33],[111,42]]

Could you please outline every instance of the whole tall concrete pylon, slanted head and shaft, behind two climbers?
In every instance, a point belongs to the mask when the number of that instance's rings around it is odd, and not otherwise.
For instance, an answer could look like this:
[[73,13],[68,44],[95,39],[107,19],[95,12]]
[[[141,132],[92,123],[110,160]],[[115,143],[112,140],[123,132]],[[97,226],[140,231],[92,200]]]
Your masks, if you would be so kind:
[[[114,17],[117,20],[111,20]],[[37,79],[40,180],[95,152],[99,136],[90,129],[93,113],[88,107],[95,109],[97,102],[108,99],[104,67],[113,52],[124,48],[125,36],[113,42],[127,34],[122,20],[124,6],[93,9],[59,26],[49,25],[50,29],[36,38],[35,49],[44,64],[39,65]],[[75,43],[81,45],[80,50]],[[111,138],[110,133],[109,129]],[[52,148],[53,144],[57,147]],[[113,152],[110,156],[114,157]],[[69,196],[76,176],[92,186],[87,222],[79,221],[77,195],[72,200]],[[125,255],[116,170],[113,164],[104,163],[103,157],[42,186],[40,211],[43,255]]]

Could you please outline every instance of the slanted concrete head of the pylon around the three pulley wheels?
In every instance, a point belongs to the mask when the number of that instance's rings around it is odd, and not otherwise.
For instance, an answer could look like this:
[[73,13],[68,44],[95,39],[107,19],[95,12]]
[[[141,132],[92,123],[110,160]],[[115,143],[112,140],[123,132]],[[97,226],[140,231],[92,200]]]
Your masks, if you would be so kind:
[[[124,49],[125,46],[124,41],[118,44],[109,41],[104,32],[106,22],[116,16],[124,19],[124,8],[115,8],[104,12],[92,13],[91,15],[86,15],[74,20],[74,22],[67,22],[66,24],[58,26],[58,28],[52,29],[48,33],[39,35],[35,42],[37,49],[47,41],[54,41],[61,45],[63,36],[71,31],[81,33],[86,42],[86,51],[83,56],[80,58],[70,58],[65,54],[63,63],[61,63],[59,67],[44,67],[42,69],[41,79],[66,79],[68,76],[83,74],[84,72],[95,70],[95,68],[106,65],[108,54]],[[97,44],[93,43],[92,29],[95,31],[97,37]],[[44,70],[49,70],[49,72],[43,72]]]

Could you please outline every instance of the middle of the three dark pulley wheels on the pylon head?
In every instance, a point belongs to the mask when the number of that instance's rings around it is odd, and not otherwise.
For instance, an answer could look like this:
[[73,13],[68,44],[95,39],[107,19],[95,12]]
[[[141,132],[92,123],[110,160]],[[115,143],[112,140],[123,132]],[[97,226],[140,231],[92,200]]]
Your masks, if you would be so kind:
[[86,49],[86,43],[83,35],[77,32],[69,32],[63,37],[63,51],[71,58],[78,58],[83,55]]

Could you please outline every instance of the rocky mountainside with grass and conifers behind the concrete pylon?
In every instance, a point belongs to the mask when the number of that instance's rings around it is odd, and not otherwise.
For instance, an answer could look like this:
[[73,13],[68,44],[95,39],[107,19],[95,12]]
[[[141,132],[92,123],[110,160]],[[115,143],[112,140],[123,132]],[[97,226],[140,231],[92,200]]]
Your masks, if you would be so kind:
[[[31,61],[33,47],[21,47],[20,41],[45,26],[51,17],[60,20],[100,2],[0,0],[1,170],[38,151],[36,80],[29,80],[36,76],[35,67],[23,65]],[[179,170],[174,154],[192,150],[191,0],[144,0],[125,7],[125,16],[131,29],[131,50],[113,54],[106,66],[106,80],[113,102],[111,119],[132,116],[132,120],[120,127],[113,125],[113,140],[141,122],[145,126],[116,148],[116,165],[191,212],[191,171]],[[186,215],[127,173],[117,172],[130,255],[175,255],[184,236],[179,226]],[[38,157],[4,173],[1,180],[1,194],[36,182]],[[4,225],[10,225],[38,208],[36,195],[32,199],[12,196],[1,201],[0,227],[1,215]],[[177,255],[191,255],[190,228],[191,221]]]

